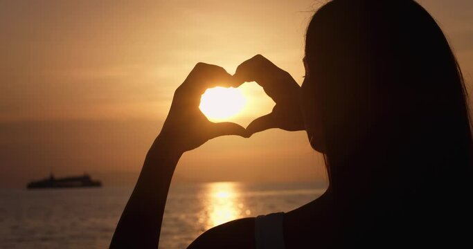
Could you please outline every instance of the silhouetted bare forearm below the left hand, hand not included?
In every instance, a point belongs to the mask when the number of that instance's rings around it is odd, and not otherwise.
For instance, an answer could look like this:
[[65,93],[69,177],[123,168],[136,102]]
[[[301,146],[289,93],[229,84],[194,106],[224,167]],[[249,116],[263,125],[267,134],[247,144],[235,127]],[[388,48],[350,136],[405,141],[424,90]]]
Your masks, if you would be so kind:
[[158,136],[116,227],[110,248],[157,248],[172,174],[181,154]]

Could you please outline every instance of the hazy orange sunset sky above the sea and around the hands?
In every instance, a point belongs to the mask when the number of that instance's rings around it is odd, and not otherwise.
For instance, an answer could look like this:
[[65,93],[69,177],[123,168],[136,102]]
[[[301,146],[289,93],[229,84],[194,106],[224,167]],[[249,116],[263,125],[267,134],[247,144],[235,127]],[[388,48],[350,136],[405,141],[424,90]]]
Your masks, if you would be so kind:
[[[0,0],[0,187],[89,172],[133,183],[172,95],[197,62],[234,73],[262,54],[301,84],[305,28],[324,1]],[[473,82],[473,1],[420,1]],[[402,18],[402,13],[400,13]],[[244,86],[246,126],[271,111]],[[471,100],[471,98],[470,98]],[[251,107],[251,108],[250,108]],[[316,181],[303,131],[222,137],[187,152],[176,181]]]

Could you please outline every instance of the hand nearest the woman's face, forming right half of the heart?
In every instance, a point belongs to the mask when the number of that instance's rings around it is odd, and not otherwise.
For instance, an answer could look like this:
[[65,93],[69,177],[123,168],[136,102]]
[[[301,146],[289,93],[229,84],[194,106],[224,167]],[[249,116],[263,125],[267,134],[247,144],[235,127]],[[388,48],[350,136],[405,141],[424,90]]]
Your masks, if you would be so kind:
[[276,102],[271,113],[253,120],[248,125],[249,136],[271,128],[280,128],[286,131],[304,129],[299,105],[301,86],[289,73],[278,68],[262,55],[256,55],[240,64],[233,77],[240,83],[253,81],[258,83],[265,93]]

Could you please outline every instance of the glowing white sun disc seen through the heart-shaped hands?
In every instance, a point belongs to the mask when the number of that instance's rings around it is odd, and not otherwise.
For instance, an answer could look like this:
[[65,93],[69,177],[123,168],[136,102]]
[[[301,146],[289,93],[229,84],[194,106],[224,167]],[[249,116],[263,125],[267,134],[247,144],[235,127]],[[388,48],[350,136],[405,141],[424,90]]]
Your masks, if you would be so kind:
[[237,116],[246,102],[239,89],[217,86],[202,94],[199,109],[208,120],[220,122]]

